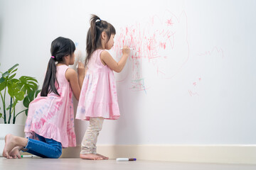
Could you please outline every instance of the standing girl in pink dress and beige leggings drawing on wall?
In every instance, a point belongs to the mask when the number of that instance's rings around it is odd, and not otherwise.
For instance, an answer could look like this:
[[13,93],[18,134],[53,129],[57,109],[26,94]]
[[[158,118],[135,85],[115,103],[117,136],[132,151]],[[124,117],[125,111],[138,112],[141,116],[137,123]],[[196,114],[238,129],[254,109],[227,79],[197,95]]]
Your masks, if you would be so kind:
[[114,72],[121,72],[129,56],[129,48],[124,47],[122,58],[115,62],[109,52],[114,45],[115,29],[107,21],[92,15],[87,32],[86,73],[82,84],[76,118],[90,120],[82,140],[80,158],[108,159],[97,154],[97,136],[102,129],[104,119],[119,118],[116,81]]

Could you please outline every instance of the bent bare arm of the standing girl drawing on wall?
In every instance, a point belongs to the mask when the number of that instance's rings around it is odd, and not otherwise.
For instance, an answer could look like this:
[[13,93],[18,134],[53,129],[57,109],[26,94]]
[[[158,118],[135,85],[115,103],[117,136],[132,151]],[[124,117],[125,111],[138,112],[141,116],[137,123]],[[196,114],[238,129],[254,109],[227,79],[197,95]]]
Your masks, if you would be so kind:
[[110,67],[110,69],[114,70],[114,72],[121,72],[122,69],[124,68],[125,63],[127,62],[127,58],[129,57],[129,47],[124,46],[123,47],[123,55],[121,57],[121,60],[119,60],[119,62],[116,62],[112,56],[110,55],[109,52],[107,51],[102,51],[102,53],[100,54],[100,59],[102,60],[102,63],[104,65],[107,64],[107,67]]

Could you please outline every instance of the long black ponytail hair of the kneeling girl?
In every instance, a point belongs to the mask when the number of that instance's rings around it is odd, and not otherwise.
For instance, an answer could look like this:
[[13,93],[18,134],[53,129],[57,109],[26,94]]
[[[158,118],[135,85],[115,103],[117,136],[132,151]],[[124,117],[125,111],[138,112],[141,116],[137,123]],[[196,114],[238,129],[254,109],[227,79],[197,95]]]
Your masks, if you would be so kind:
[[[75,44],[68,38],[59,37],[53,40],[50,47],[52,57],[48,62],[46,77],[43,81],[41,96],[47,96],[50,92],[58,94],[58,80],[56,78],[56,64],[55,62],[63,62],[63,57],[70,55],[72,57],[75,51]],[[57,86],[57,87],[56,87]]]

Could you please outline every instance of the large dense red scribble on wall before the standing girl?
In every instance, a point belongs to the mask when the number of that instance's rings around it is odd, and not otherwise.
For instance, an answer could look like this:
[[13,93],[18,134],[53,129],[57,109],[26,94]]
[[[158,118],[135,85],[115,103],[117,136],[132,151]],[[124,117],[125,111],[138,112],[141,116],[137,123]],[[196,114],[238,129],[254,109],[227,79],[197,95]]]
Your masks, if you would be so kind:
[[[132,69],[132,91],[148,89],[144,83],[142,63],[148,62],[156,70],[156,74],[164,79],[174,77],[186,64],[189,57],[187,16],[182,12],[180,16],[170,11],[164,15],[152,16],[147,21],[135,23],[132,26],[120,28],[115,35],[112,50],[117,57],[122,56],[124,45],[132,47],[129,57],[129,69]],[[143,68],[145,72],[148,68]],[[129,72],[117,82],[128,78]]]

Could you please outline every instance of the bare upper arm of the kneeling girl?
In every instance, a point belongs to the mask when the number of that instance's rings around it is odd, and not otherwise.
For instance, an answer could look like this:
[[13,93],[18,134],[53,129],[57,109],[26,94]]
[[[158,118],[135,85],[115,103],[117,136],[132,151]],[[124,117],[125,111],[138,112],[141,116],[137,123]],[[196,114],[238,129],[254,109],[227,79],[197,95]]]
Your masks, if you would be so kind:
[[81,89],[78,84],[78,74],[75,72],[74,69],[68,68],[65,72],[65,78],[70,82],[70,86],[75,98],[79,100]]

